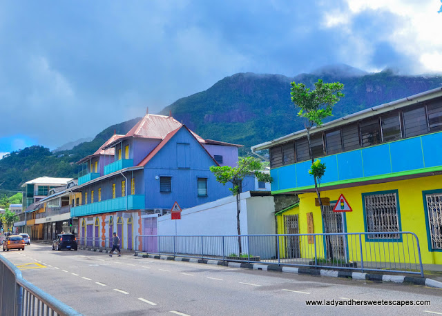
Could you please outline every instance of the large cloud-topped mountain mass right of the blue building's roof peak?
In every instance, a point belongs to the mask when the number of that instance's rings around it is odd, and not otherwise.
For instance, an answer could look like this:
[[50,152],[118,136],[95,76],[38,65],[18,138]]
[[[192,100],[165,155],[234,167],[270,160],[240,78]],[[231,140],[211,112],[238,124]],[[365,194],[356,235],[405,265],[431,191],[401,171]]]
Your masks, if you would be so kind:
[[249,150],[250,146],[304,128],[290,99],[290,83],[314,87],[318,79],[344,83],[345,97],[336,104],[329,120],[440,87],[442,83],[442,76],[400,76],[391,70],[367,74],[342,65],[291,78],[247,72],[179,99],[160,114],[167,115],[170,110],[175,119],[202,137],[243,144],[244,150]]

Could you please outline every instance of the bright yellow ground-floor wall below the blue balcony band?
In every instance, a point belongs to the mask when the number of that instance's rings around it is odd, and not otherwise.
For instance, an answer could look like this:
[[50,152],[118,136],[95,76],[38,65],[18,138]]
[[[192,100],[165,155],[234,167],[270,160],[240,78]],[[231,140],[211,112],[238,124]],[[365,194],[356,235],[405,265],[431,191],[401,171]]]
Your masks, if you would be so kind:
[[[393,181],[383,184],[357,186],[354,188],[343,188],[338,190],[321,190],[321,197],[329,197],[330,201],[336,201],[339,195],[343,193],[353,210],[353,212],[348,212],[345,214],[347,221],[347,233],[358,233],[365,232],[362,194],[386,190],[398,190],[401,230],[404,232],[410,231],[415,233],[419,238],[423,264],[442,264],[442,252],[430,252],[428,250],[427,226],[425,224],[425,212],[422,195],[422,191],[437,189],[442,189],[442,175]],[[304,193],[299,195],[300,234],[307,234],[307,213],[309,212],[313,212],[314,232],[323,233],[323,221],[320,215],[320,208],[315,206],[315,197],[316,193]],[[278,233],[280,232],[280,225],[282,227],[284,226],[282,216],[279,217]],[[393,249],[393,245],[395,245],[396,248]],[[401,246],[402,248],[400,246],[398,247],[397,243],[382,241],[365,243],[363,239],[364,252],[367,254],[372,253],[372,256],[377,253],[377,259],[381,259],[381,261],[389,261],[387,255],[384,255],[385,253],[388,254],[389,251],[390,255],[396,251],[396,255],[405,255],[405,257],[407,257],[410,253],[414,253],[414,251],[412,251],[412,238],[409,237],[409,239],[406,239],[406,237],[403,237],[403,243]],[[407,250],[407,246],[410,248],[410,253]],[[358,249],[358,240],[356,240],[356,238],[354,238],[354,247],[352,248]],[[352,250],[350,249],[350,258],[352,258],[351,252]]]

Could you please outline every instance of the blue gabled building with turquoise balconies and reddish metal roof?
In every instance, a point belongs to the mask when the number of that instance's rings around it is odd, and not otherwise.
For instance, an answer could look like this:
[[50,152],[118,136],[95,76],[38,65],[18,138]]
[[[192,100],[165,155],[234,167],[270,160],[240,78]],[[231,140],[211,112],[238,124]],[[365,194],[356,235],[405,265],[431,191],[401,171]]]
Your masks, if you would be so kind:
[[[211,166],[236,166],[238,145],[202,139],[173,117],[146,114],[126,135],[113,135],[94,155],[81,159],[71,216],[78,218],[79,240],[104,246],[113,232],[122,248],[134,249],[135,236],[152,232],[148,215],[169,213],[231,195]],[[111,159],[110,159],[111,158]],[[245,181],[243,190],[253,190]]]

